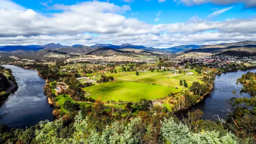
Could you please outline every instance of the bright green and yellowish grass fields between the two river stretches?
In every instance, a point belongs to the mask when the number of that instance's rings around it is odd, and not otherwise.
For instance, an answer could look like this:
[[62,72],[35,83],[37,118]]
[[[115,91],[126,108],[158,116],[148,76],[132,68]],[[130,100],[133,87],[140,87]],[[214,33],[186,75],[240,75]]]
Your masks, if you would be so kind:
[[[116,68],[120,69],[120,67]],[[101,100],[105,102],[108,100],[136,102],[140,101],[141,99],[156,99],[167,97],[170,92],[180,92],[183,90],[183,86],[179,85],[180,80],[186,80],[189,86],[194,81],[201,82],[195,75],[185,75],[182,73],[175,76],[173,72],[164,72],[164,70],[159,70],[158,72],[157,70],[154,72],[139,72],[138,76],[136,76],[135,73],[136,72],[108,72],[105,73],[106,76],[113,76],[115,79],[114,81],[101,84],[95,83],[95,85],[85,87],[83,90],[90,93],[89,97],[93,99],[98,99],[98,97],[100,97]],[[194,73],[196,74],[196,72]],[[91,79],[100,79],[100,77],[92,78],[92,75],[96,75],[96,73],[86,74],[86,76],[89,76]],[[100,73],[98,73],[98,75],[100,75]],[[81,79],[80,81],[85,82],[86,79]],[[55,90],[52,90],[52,92],[55,92]],[[56,97],[56,101],[63,112],[67,112],[63,108],[63,104],[67,100],[75,103],[75,101],[73,101],[72,98],[68,96],[64,97],[63,95],[59,95]],[[86,102],[78,102],[78,104],[86,106],[93,105]],[[167,105],[166,102],[163,105],[167,106],[167,108],[171,110],[171,107]],[[122,109],[123,105],[105,105],[105,111],[110,112],[112,106],[116,107],[117,109]],[[137,112],[138,110],[134,107],[133,114],[136,114]]]

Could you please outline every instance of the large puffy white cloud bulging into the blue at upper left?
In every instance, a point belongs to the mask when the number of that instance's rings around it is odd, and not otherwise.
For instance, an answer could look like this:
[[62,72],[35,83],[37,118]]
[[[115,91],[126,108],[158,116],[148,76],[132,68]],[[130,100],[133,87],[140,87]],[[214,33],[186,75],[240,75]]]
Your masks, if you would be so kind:
[[[46,17],[32,9],[0,9],[0,36],[40,34],[118,33],[129,28],[129,20],[118,14],[131,10],[106,2],[83,2],[72,6],[53,6],[64,10]],[[85,11],[86,10],[86,11]],[[133,20],[132,25],[141,24]]]

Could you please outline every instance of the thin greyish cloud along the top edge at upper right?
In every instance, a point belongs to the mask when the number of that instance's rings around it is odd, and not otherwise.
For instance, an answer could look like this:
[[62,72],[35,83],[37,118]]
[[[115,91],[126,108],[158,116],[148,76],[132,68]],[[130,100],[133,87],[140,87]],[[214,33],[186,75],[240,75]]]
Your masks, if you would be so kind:
[[206,3],[212,3],[216,5],[230,5],[236,3],[243,3],[246,8],[256,7],[256,0],[173,0],[178,4],[184,4],[186,6],[201,5]]

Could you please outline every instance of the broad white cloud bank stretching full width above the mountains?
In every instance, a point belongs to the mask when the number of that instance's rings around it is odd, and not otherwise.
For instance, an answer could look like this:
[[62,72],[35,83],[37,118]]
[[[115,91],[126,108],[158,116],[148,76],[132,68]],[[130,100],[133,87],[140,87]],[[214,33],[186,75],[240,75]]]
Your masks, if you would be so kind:
[[[255,18],[206,21],[193,17],[183,23],[152,25],[123,16],[122,13],[131,10],[127,5],[87,1],[75,5],[47,5],[47,8],[61,12],[45,16],[9,0],[0,5],[0,45],[58,42],[91,46],[111,41],[114,45],[131,43],[163,48],[256,39]],[[157,18],[161,11],[158,13]]]

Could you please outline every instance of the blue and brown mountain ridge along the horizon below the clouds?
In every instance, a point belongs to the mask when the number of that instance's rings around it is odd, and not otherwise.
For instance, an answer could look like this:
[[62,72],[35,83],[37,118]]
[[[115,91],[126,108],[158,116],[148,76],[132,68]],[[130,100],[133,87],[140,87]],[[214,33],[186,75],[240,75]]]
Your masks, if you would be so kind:
[[[40,52],[46,52],[46,51],[55,51],[55,52],[67,52],[67,53],[86,53],[86,52],[92,52],[93,49],[98,48],[111,48],[116,50],[123,50],[122,52],[126,52],[125,49],[134,49],[134,50],[144,50],[146,52],[155,52],[155,53],[189,53],[189,52],[209,52],[212,54],[221,53],[224,51],[237,51],[244,50],[248,52],[256,52],[256,41],[255,40],[245,40],[245,41],[239,41],[234,43],[222,43],[217,45],[180,45],[180,46],[174,46],[169,48],[154,48],[154,47],[146,47],[146,46],[136,46],[131,44],[122,44],[120,46],[118,45],[112,45],[112,44],[95,44],[93,46],[83,46],[83,45],[73,45],[73,46],[64,46],[59,43],[49,43],[44,46],[39,45],[27,45],[27,46],[0,46],[0,51],[6,51],[6,52],[13,52],[17,50],[25,50],[25,51],[40,51]],[[243,49],[243,47],[246,47],[246,49]],[[129,50],[130,52],[134,50]],[[143,51],[140,51],[143,52]],[[229,53],[229,52],[225,52]]]

